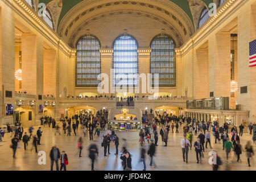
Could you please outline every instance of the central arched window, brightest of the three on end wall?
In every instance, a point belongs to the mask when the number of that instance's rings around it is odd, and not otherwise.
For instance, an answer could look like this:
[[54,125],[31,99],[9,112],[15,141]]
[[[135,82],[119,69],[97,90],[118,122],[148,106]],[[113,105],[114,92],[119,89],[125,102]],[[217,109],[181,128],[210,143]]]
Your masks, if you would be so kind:
[[133,36],[121,35],[113,44],[113,85],[138,85],[138,43]]

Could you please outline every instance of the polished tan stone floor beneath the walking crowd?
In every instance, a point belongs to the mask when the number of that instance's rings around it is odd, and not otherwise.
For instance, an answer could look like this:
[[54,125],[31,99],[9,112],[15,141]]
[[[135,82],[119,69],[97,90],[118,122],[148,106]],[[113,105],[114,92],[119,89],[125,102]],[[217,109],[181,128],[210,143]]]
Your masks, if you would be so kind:
[[[37,129],[38,127],[34,127]],[[11,150],[10,143],[11,137],[10,133],[5,135],[3,138],[3,142],[0,142],[0,170],[16,170],[16,171],[43,171],[50,169],[50,159],[49,159],[49,151],[51,147],[56,144],[60,151],[65,151],[68,155],[69,165],[67,166],[67,170],[74,170],[74,171],[83,171],[83,170],[90,170],[90,160],[88,158],[88,147],[90,144],[90,140],[88,137],[84,138],[82,150],[82,158],[79,158],[79,153],[76,148],[77,140],[80,136],[82,136],[82,130],[79,129],[77,132],[77,136],[75,137],[72,133],[71,137],[67,137],[63,133],[61,135],[55,135],[55,130],[49,127],[42,127],[43,135],[41,139],[42,145],[38,146],[38,151],[46,151],[47,159],[46,165],[39,165],[38,158],[39,156],[35,153],[35,150],[31,151],[32,148],[32,140],[29,142],[28,150],[24,151],[23,143],[20,142],[21,148],[17,149],[16,152],[16,159],[13,159],[13,151]],[[27,129],[25,129],[27,131]],[[34,131],[35,133],[35,131]],[[110,144],[110,155],[108,157],[104,157],[104,149],[101,147],[102,142],[102,134],[100,137],[95,137],[94,141],[98,145],[99,149],[99,157],[95,164],[96,170],[108,170],[108,171],[115,171],[115,170],[122,170],[120,154],[115,156],[115,147],[114,143]],[[130,133],[131,135],[137,135],[137,133]],[[120,145],[119,148],[122,147],[122,137],[119,136]],[[134,136],[133,136],[134,138]],[[205,170],[212,170],[212,166],[208,163],[208,153],[210,149],[206,149],[204,152],[204,158],[202,163],[196,163],[196,152],[192,147],[192,150],[188,153],[188,164],[183,162],[180,140],[183,138],[183,133],[179,128],[179,134],[172,134],[169,133],[169,140],[168,146],[163,147],[164,143],[160,140],[158,142],[159,146],[156,148],[156,156],[154,158],[155,163],[157,164],[157,168],[152,168],[149,166],[150,159],[147,157],[146,164],[147,170],[162,170],[162,171],[181,171],[181,170],[193,170],[193,171],[205,171]],[[140,158],[140,146],[138,140],[129,140],[127,138],[128,149],[130,154],[132,155],[132,166],[133,170],[141,171],[143,169],[143,164],[138,163]],[[193,141],[195,141],[196,137],[193,137]],[[236,155],[234,152],[230,152],[230,160],[226,162],[225,160],[225,152],[222,151],[222,142],[214,144],[214,138],[211,134],[211,142],[213,146],[213,150],[218,152],[218,155],[222,159],[222,166],[220,166],[220,170],[256,170],[256,163],[254,162],[254,156],[251,158],[251,167],[247,165],[247,159],[245,156],[245,143],[247,140],[251,140],[251,135],[244,134],[241,137],[241,144],[242,144],[242,154],[241,160],[242,162],[236,162]],[[253,144],[254,145],[254,144]],[[255,151],[255,146],[254,146]],[[56,169],[55,166],[53,169]]]

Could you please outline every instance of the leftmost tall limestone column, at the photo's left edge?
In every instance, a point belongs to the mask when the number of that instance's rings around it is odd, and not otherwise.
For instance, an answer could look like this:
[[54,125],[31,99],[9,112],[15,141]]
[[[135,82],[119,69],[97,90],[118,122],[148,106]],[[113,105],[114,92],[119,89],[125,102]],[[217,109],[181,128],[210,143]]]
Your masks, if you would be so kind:
[[[15,78],[15,19],[9,6],[4,6],[0,11],[0,84],[1,103],[0,125],[13,123],[13,116],[5,116],[5,103],[13,103],[13,98],[5,97],[5,90],[12,91],[14,97]],[[14,105],[14,109],[16,106]]]

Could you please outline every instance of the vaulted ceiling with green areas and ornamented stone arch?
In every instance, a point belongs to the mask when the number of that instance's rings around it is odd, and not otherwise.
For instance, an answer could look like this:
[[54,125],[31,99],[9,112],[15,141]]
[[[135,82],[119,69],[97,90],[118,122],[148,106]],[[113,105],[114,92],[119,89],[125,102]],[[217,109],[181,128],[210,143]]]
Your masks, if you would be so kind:
[[[100,19],[103,22],[105,19],[114,21],[118,15],[120,19],[133,17],[134,21],[144,18],[147,24],[167,29],[177,47],[180,47],[197,30],[202,8],[216,1],[218,0],[39,0],[39,3],[45,3],[51,10],[55,30],[71,47],[75,46],[79,36],[86,33],[86,28],[106,28],[101,26],[104,23],[100,23]],[[110,16],[113,18],[109,19]],[[141,21],[141,24],[147,26],[145,22]]]

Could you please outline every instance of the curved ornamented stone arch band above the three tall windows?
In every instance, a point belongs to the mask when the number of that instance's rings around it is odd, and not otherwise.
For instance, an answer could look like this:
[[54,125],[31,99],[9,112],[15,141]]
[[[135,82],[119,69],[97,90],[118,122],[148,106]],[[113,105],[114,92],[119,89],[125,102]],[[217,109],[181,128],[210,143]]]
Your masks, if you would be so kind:
[[[105,14],[106,11],[112,10],[114,12],[120,11],[120,9],[126,9],[126,11],[131,12],[143,10],[144,12],[147,12],[147,14],[155,14],[155,18],[157,17],[160,20],[166,19],[162,22],[164,24],[167,24],[168,22],[168,24],[171,25],[170,28],[172,31],[176,29],[176,35],[179,32],[179,39],[181,39],[180,42],[185,42],[185,40],[187,40],[194,32],[193,24],[189,17],[185,15],[185,13],[177,5],[174,5],[174,3],[170,1],[168,1],[170,7],[164,4],[164,0],[159,1],[160,3],[158,4],[157,0],[151,4],[139,1],[112,2],[102,0],[100,2],[101,3],[94,2],[93,6],[89,6],[89,3],[86,6],[82,6],[82,3],[85,2],[81,2],[79,5],[70,10],[61,20],[59,25],[58,32],[60,36],[68,42],[70,36],[73,34],[73,31],[79,28],[78,26],[84,24],[84,22],[88,22],[88,19],[93,19],[92,14],[94,14],[94,16],[98,16],[99,13]],[[150,1],[147,0],[146,2]],[[84,7],[87,7],[87,9]],[[98,12],[98,14],[95,12]]]

